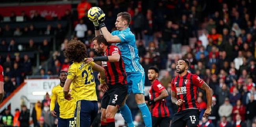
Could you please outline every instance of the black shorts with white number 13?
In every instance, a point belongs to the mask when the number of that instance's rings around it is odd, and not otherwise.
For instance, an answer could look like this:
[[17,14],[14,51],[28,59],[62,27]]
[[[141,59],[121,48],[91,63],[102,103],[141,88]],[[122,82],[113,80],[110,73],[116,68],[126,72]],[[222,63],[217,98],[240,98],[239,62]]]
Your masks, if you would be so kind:
[[171,127],[199,127],[198,109],[186,109],[175,113],[171,123]]

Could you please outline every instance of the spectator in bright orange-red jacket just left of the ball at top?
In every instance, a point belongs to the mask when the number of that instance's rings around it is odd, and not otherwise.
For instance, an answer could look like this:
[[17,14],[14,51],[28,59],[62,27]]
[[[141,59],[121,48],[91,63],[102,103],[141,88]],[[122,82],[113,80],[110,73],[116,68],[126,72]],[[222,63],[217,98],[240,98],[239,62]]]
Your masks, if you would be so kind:
[[78,19],[80,20],[82,17],[87,17],[87,11],[91,7],[91,4],[87,2],[87,0],[81,0],[81,2],[77,5]]

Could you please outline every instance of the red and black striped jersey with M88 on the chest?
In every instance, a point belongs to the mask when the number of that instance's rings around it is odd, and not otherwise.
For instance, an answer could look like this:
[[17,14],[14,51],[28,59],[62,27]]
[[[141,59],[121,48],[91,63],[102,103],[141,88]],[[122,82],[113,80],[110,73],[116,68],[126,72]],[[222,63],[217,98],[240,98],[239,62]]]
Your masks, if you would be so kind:
[[185,102],[178,107],[178,112],[185,109],[199,109],[197,102],[198,87],[203,85],[204,81],[197,75],[187,73],[184,76],[176,76],[172,80],[172,91],[176,92],[176,98]]

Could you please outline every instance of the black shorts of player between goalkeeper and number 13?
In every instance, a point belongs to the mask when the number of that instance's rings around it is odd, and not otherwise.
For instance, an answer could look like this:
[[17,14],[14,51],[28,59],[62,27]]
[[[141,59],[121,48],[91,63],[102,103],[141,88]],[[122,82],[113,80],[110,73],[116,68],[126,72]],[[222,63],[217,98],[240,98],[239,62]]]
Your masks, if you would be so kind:
[[152,127],[169,127],[171,117],[155,117],[152,116]]

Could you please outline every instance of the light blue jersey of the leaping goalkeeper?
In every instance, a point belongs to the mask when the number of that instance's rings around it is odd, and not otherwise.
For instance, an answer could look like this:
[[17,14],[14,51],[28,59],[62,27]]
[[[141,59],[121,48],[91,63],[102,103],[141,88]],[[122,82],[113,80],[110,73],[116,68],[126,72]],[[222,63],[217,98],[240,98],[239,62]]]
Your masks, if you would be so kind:
[[111,35],[117,35],[121,42],[117,43],[116,46],[121,51],[122,59],[124,61],[125,65],[125,71],[126,72],[138,72],[143,71],[144,69],[139,63],[139,55],[138,55],[138,49],[135,44],[135,36],[130,31],[130,28],[127,28],[125,30],[119,31],[113,31]]

